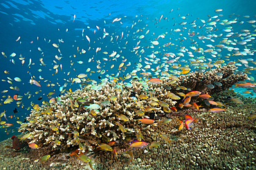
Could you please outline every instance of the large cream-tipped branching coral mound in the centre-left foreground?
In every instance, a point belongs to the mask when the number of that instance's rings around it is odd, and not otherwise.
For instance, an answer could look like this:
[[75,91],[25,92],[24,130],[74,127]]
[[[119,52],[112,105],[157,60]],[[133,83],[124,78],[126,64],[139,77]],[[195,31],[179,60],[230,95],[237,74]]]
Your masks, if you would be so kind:
[[[77,89],[73,93],[68,92],[64,96],[55,98],[54,103],[42,105],[37,110],[33,109],[27,118],[28,125],[20,128],[19,131],[28,131],[32,134],[33,136],[28,138],[30,142],[44,143],[44,146],[50,145],[53,148],[66,149],[80,142],[84,145],[83,151],[93,150],[96,142],[122,141],[129,136],[136,136],[138,128],[150,134],[149,127],[152,125],[141,125],[138,120],[149,118],[154,111],[161,113],[164,111],[160,105],[156,105],[152,110],[145,111],[145,115],[136,116],[136,110],[144,111],[143,108],[152,101],[147,92],[154,91],[154,96],[170,107],[176,102],[168,98],[167,91],[162,85],[149,84],[149,91],[146,91],[142,84],[134,82],[133,88],[129,89],[123,83],[106,83],[100,90],[84,88]],[[120,90],[120,86],[125,89]],[[136,98],[139,98],[140,94],[148,97],[134,102],[134,98],[129,96],[134,90]],[[90,104],[100,105],[100,109],[98,111],[86,109],[85,106]],[[121,114],[127,116],[129,120],[120,120],[118,116]],[[125,127],[126,131],[121,131],[118,123]]]

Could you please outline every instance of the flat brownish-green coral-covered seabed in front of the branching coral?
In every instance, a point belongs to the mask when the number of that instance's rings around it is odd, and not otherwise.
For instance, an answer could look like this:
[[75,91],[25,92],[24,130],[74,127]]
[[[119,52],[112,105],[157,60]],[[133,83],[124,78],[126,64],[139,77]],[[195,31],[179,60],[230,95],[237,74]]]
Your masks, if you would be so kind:
[[[191,114],[199,117],[200,124],[192,129],[178,131],[174,119],[167,125],[154,128],[154,133],[145,134],[147,142],[161,142],[156,148],[134,149],[134,160],[123,151],[118,156],[113,152],[91,153],[93,169],[256,169],[256,124],[248,119],[255,114],[256,104],[236,105],[226,111],[210,113],[206,109],[186,109],[167,118]],[[159,134],[167,134],[174,140],[172,145]],[[91,169],[89,163],[70,157],[70,152],[51,151],[39,148],[31,151],[6,149],[12,140],[1,141],[0,169]],[[27,153],[26,153],[27,152]],[[40,158],[51,154],[46,162]]]

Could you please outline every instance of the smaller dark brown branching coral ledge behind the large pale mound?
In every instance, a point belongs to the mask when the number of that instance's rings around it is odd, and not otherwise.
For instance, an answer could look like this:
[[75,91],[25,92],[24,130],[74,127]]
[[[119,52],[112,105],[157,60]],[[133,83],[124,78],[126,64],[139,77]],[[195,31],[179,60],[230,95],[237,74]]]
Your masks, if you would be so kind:
[[[248,78],[246,74],[234,74],[237,67],[235,65],[227,65],[217,67],[216,69],[209,70],[208,72],[190,72],[187,75],[179,76],[177,81],[179,85],[183,85],[187,88],[198,90],[202,93],[208,92],[208,94],[216,94],[222,92],[234,85],[239,81],[244,81]],[[217,73],[223,74],[218,76]],[[222,85],[218,86],[214,83],[219,82]],[[206,85],[214,85],[213,89],[210,89]]]

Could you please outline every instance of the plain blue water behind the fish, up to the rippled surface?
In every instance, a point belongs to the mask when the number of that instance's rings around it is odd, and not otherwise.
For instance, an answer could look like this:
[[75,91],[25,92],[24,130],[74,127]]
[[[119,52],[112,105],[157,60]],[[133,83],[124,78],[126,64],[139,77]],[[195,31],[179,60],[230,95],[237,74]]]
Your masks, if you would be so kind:
[[[255,7],[256,1],[4,1],[0,3],[0,48],[1,52],[4,52],[7,56],[0,56],[0,75],[1,80],[8,80],[7,77],[21,78],[21,82],[12,81],[12,85],[6,81],[0,82],[1,92],[4,89],[8,89],[8,92],[2,94],[2,96],[14,96],[18,94],[23,96],[21,100],[24,105],[21,108],[21,105],[17,106],[16,101],[10,104],[3,104],[3,101],[6,100],[6,97],[1,98],[0,111],[6,111],[7,116],[15,116],[15,118],[8,118],[8,121],[5,118],[1,118],[2,121],[8,123],[13,123],[12,127],[0,128],[1,138],[4,140],[10,138],[13,134],[17,135],[17,129],[19,124],[16,123],[18,120],[23,121],[24,117],[30,113],[30,110],[27,108],[31,106],[31,102],[34,104],[42,105],[43,100],[49,100],[47,98],[48,92],[55,92],[53,97],[60,94],[60,86],[64,83],[68,83],[66,80],[68,78],[75,78],[80,73],[85,73],[88,67],[91,68],[95,73],[92,73],[89,78],[98,80],[100,73],[96,72],[98,69],[96,66],[100,61],[100,67],[106,70],[107,72],[102,76],[105,77],[106,74],[116,75],[120,72],[120,76],[125,76],[127,73],[136,69],[136,63],[139,61],[138,55],[132,52],[133,47],[136,47],[136,43],[140,40],[140,46],[150,45],[150,41],[156,39],[160,34],[165,33],[165,39],[161,40],[161,45],[165,43],[175,43],[179,46],[185,46],[190,50],[191,42],[189,39],[198,40],[196,36],[189,37],[187,31],[199,32],[199,35],[207,35],[213,33],[206,33],[205,28],[196,29],[191,28],[192,21],[196,20],[197,25],[203,25],[200,19],[205,21],[208,20],[208,15],[215,16],[217,15],[214,10],[219,8],[223,9],[219,14],[223,14],[223,19],[236,19],[237,21],[244,21],[244,24],[239,25],[238,23],[232,25],[232,32],[240,32],[241,29],[248,29],[253,32],[255,28],[252,27],[251,23],[247,23],[249,19],[243,16],[250,16],[250,19],[255,18]],[[173,9],[172,12],[170,12]],[[75,21],[73,21],[73,16],[75,14]],[[163,14],[163,18],[158,23]],[[179,17],[180,15],[180,17]],[[187,19],[181,19],[181,17],[186,17]],[[112,23],[113,19],[121,18],[120,21]],[[167,19],[165,19],[167,17]],[[105,23],[104,23],[105,22]],[[122,22],[122,23],[120,23]],[[181,22],[188,22],[185,25],[186,28],[184,32],[173,32],[174,29],[182,29],[182,25],[179,25]],[[134,25],[136,23],[136,25]],[[176,25],[174,25],[176,23]],[[100,28],[98,30],[96,25]],[[131,25],[134,25],[131,28]],[[111,35],[113,34],[113,41],[110,41],[111,36],[106,36],[102,39],[103,28]],[[145,28],[145,29],[144,29]],[[217,32],[214,34],[226,34],[223,32],[225,26],[217,25]],[[68,29],[68,30],[67,30]],[[135,33],[138,29],[142,29],[138,33]],[[172,34],[170,30],[172,29]],[[67,31],[66,31],[67,30]],[[82,36],[82,30],[84,30],[84,35]],[[150,30],[149,34],[145,36],[144,39],[136,39],[137,36],[145,34],[146,30]],[[95,31],[95,33],[94,33]],[[121,34],[124,34],[122,40],[120,40]],[[153,34],[154,32],[154,34]],[[180,35],[180,34],[183,35]],[[89,36],[91,43],[86,40],[85,35]],[[116,36],[118,35],[118,41],[116,41]],[[18,37],[21,37],[19,41],[16,41]],[[183,44],[180,44],[179,41],[183,37],[187,37],[189,41],[183,41]],[[180,39],[179,39],[180,38]],[[64,43],[60,43],[59,39],[62,39]],[[135,40],[136,39],[136,40]],[[179,39],[175,41],[175,39]],[[51,41],[50,41],[51,40]],[[33,43],[32,43],[33,41]],[[48,41],[50,41],[48,43]],[[127,42],[128,41],[128,42]],[[160,41],[160,40],[159,40]],[[125,43],[127,42],[127,45]],[[56,47],[53,47],[53,43],[60,45],[60,51],[62,54],[62,59],[57,61],[55,55],[60,56],[60,52],[57,51]],[[210,42],[208,42],[210,43]],[[208,44],[205,43],[205,44]],[[212,43],[217,45],[219,42]],[[203,46],[203,49],[207,49],[205,44],[199,42],[199,47]],[[160,47],[158,45],[157,47]],[[255,48],[255,43],[253,43]],[[171,46],[166,48],[167,52],[178,53],[179,46]],[[237,45],[239,48],[243,48],[242,45]],[[42,49],[42,52],[38,50],[38,47]],[[79,52],[77,52],[77,47],[79,47]],[[91,49],[89,50],[89,47]],[[102,50],[98,52],[98,55],[95,55],[95,50],[97,47],[101,47]],[[126,49],[122,48],[126,47]],[[152,54],[152,51],[161,51],[155,47],[154,49],[146,50],[145,53],[140,54],[143,61],[144,57]],[[85,54],[80,54],[81,50],[86,50]],[[122,52],[120,52],[122,50]],[[139,49],[141,50],[141,48]],[[109,59],[109,54],[112,51],[118,52],[120,58],[117,61],[103,61],[102,58]],[[15,52],[17,55],[15,57],[9,57],[12,52]],[[102,52],[108,52],[109,54],[103,54]],[[223,56],[226,53],[222,52],[221,59],[226,59]],[[156,54],[159,59],[163,56],[163,51],[161,55]],[[21,56],[20,56],[21,55]],[[75,55],[75,56],[74,56]],[[158,56],[159,55],[159,56]],[[124,72],[118,70],[118,65],[122,63],[121,56],[124,56],[124,59],[127,59],[125,65],[131,62],[130,66],[127,66],[127,70]],[[199,55],[200,56],[200,55]],[[25,63],[21,65],[20,57],[24,57]],[[91,63],[88,63],[89,59],[93,57]],[[205,57],[212,58],[210,55],[205,54]],[[43,58],[44,65],[40,65],[39,59]],[[190,57],[184,56],[182,59],[188,60]],[[253,58],[254,56],[246,56],[246,58]],[[15,61],[15,64],[11,60]],[[32,65],[28,67],[29,59],[32,59]],[[232,56],[230,61],[237,61],[241,59],[241,56]],[[58,68],[58,73],[55,74],[53,66],[57,62],[57,65],[62,64],[63,70]],[[83,61],[83,64],[77,63],[77,61]],[[215,60],[216,61],[216,60]],[[73,63],[73,65],[71,65]],[[105,63],[105,64],[104,64]],[[160,61],[159,65],[163,63]],[[110,69],[111,65],[115,65],[113,69]],[[186,63],[181,63],[185,65]],[[103,66],[104,65],[104,66]],[[250,65],[254,66],[253,63]],[[145,66],[145,63],[143,64]],[[155,67],[154,67],[155,68]],[[242,70],[244,67],[239,67],[239,70]],[[42,72],[38,70],[42,69]],[[9,74],[5,74],[4,70],[8,71]],[[67,73],[70,72],[69,75]],[[250,74],[249,76],[254,76]],[[89,75],[89,73],[88,73]],[[39,81],[42,85],[41,88],[30,85],[29,81],[31,76],[34,76],[33,79]],[[42,76],[44,79],[40,80],[39,76]],[[47,86],[47,84],[53,83],[55,86]],[[19,92],[10,89],[12,87],[19,87]],[[80,88],[78,84],[68,83],[66,90],[71,88],[73,91],[77,88]],[[39,91],[39,94],[35,92]],[[30,92],[32,96],[28,98],[25,94]],[[37,100],[37,98],[42,97],[42,100]],[[14,114],[12,109],[18,109],[18,113]],[[14,131],[13,133],[6,134],[6,130]],[[10,131],[9,131],[10,132]]]

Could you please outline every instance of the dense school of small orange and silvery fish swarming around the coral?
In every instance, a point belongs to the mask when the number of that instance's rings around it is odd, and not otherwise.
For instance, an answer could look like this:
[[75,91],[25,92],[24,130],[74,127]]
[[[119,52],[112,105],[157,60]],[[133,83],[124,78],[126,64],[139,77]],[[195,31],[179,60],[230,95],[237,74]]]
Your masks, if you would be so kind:
[[[176,11],[170,10],[169,14],[159,15],[154,20],[135,16],[134,21],[131,24],[127,24],[126,16],[123,16],[114,18],[111,21],[104,21],[104,23],[98,23],[98,25],[88,25],[87,28],[81,30],[80,35],[75,39],[80,43],[68,44],[68,47],[73,49],[73,54],[69,56],[62,54],[62,51],[66,48],[65,42],[67,40],[65,38],[53,42],[51,39],[37,36],[37,39],[30,41],[31,45],[37,46],[36,50],[40,55],[39,59],[33,56],[24,56],[22,51],[6,52],[3,50],[1,52],[2,57],[10,60],[10,63],[15,67],[28,67],[28,70],[33,68],[33,70],[37,70],[37,73],[28,71],[28,78],[26,78],[28,82],[26,82],[24,78],[8,76],[13,70],[3,70],[6,78],[2,78],[1,81],[8,83],[10,88],[1,89],[3,96],[0,105],[12,104],[18,109],[26,109],[27,111],[30,111],[30,109],[38,110],[41,104],[57,103],[62,105],[63,101],[60,97],[56,97],[57,95],[73,93],[72,89],[79,87],[81,89],[100,90],[104,87],[102,83],[107,82],[125,82],[125,86],[116,86],[116,89],[120,92],[125,87],[131,88],[131,81],[143,82],[143,87],[147,89],[148,83],[161,85],[165,77],[174,77],[174,81],[170,84],[175,86],[175,76],[188,74],[191,71],[206,72],[213,67],[221,67],[222,65],[235,65],[237,67],[236,74],[252,74],[256,70],[256,67],[254,67],[256,62],[253,59],[256,16],[239,16],[237,14],[224,16],[221,14],[221,9],[214,10],[214,12],[214,16],[208,15],[203,19],[194,19],[192,14],[179,14],[178,9]],[[73,16],[72,23],[76,22],[75,18],[77,18],[76,15]],[[124,27],[124,25],[126,26]],[[119,30],[112,28],[119,28]],[[59,31],[66,34],[69,32],[68,29]],[[18,46],[26,39],[19,36],[13,41]],[[39,47],[39,44],[42,43],[44,43],[43,47]],[[53,60],[46,59],[44,52],[46,47],[49,47],[53,52]],[[18,64],[19,62],[21,64]],[[81,70],[80,67],[84,68],[83,72],[77,72],[77,70]],[[38,74],[40,75],[35,76]],[[64,78],[60,80],[59,77]],[[244,93],[253,96],[253,93],[256,92],[255,84],[254,76],[250,76],[248,80],[237,83],[235,87],[246,89]],[[37,90],[35,92],[28,90],[28,85],[36,86]],[[208,85],[210,89],[218,86],[221,86],[221,83],[215,82],[214,85]],[[48,92],[44,91],[44,88],[47,87],[49,87],[48,89],[51,88]],[[166,89],[168,88],[170,87],[166,87]],[[186,93],[183,94],[178,89],[183,89]],[[134,103],[140,107],[140,110],[136,110],[136,116],[143,116],[147,111],[154,111],[154,106],[156,105],[163,107],[163,110],[167,113],[184,108],[198,110],[201,106],[192,102],[192,99],[203,98],[208,100],[211,98],[209,94],[201,94],[196,89],[189,90],[187,87],[177,86],[178,95],[169,93],[168,96],[172,100],[179,101],[179,103],[176,107],[170,107],[168,103],[159,101],[157,96],[152,95],[150,92],[149,94],[149,96],[141,94],[138,98],[140,100],[134,98]],[[31,100],[30,103],[25,103],[23,102],[25,98],[38,98],[38,101]],[[39,98],[44,98],[44,100],[41,102]],[[75,100],[72,96],[70,98],[72,108],[79,107],[79,103],[86,102],[84,98]],[[149,105],[144,107],[141,101],[149,98],[151,100]],[[239,98],[230,99],[237,104],[243,104]],[[117,100],[117,96],[111,96],[104,103],[102,102],[102,105],[109,106],[111,105],[110,102],[115,100]],[[220,102],[209,100],[209,103],[218,106],[209,109],[208,111],[210,112],[226,110],[226,106]],[[90,110],[91,114],[96,116],[100,105],[91,103],[85,109]],[[17,119],[19,128],[27,126],[26,120],[24,120],[24,123],[19,120],[20,116],[16,115],[18,112],[17,109],[14,114],[10,109],[1,111],[0,125],[1,128],[6,129],[7,134],[15,131],[15,129],[11,129],[14,123],[8,123],[12,118]],[[45,111],[44,114],[51,114],[51,109]],[[251,118],[254,117],[251,116]],[[123,114],[116,114],[116,119],[124,122],[129,121],[129,118]],[[138,119],[140,125],[152,125],[154,123],[165,125],[170,121],[172,120]],[[191,125],[194,122],[198,124],[200,122],[199,118],[194,118],[190,115],[186,115],[183,120],[177,119],[174,121],[180,123],[179,130],[184,129],[184,125],[187,129],[191,129]],[[127,131],[121,123],[116,122],[115,125],[123,133]],[[53,131],[59,130],[55,126],[52,126],[51,129]],[[79,133],[73,131],[73,134],[77,137]],[[170,145],[174,142],[165,134],[161,134],[160,137]],[[33,138],[30,133],[24,134],[21,140],[29,138]],[[129,149],[146,147],[149,144],[143,141],[140,129],[137,129],[136,140],[128,141],[129,147],[125,153],[131,157],[131,160],[128,161],[128,163],[131,163],[134,155]],[[51,142],[55,145],[60,144],[57,139]],[[33,144],[31,147],[37,148],[35,143],[31,144]],[[77,145],[82,150],[82,144],[77,142]],[[113,153],[117,154],[116,150],[111,147],[113,145],[115,143],[110,141],[108,143],[97,143],[95,149],[113,151]],[[160,145],[160,142],[152,142],[149,145],[149,149]],[[85,153],[78,154],[78,152],[74,152],[71,154],[84,162],[89,162],[92,167],[91,159]],[[50,157],[50,155],[44,156],[42,163]]]

